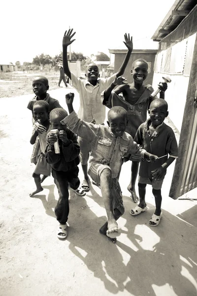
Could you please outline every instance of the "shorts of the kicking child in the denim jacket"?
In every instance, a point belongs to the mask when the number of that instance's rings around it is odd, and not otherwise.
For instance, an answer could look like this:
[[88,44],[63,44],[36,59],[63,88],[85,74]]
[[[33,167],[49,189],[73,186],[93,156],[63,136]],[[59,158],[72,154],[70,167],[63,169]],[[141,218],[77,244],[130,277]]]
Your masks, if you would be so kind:
[[[108,165],[104,165],[97,162],[91,162],[88,174],[90,175],[93,181],[100,185],[100,174],[104,169],[109,169],[111,171]],[[123,215],[125,212],[125,208],[123,205],[122,191],[117,178],[112,179],[111,192],[113,209],[118,209],[119,212]]]

